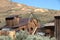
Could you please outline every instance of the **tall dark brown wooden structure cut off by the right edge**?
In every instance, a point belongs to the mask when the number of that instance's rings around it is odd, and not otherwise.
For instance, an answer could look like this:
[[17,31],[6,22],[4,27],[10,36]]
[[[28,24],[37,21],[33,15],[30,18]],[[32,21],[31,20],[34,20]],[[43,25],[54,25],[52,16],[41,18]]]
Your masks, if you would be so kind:
[[60,40],[60,16],[55,16],[55,33],[57,40]]

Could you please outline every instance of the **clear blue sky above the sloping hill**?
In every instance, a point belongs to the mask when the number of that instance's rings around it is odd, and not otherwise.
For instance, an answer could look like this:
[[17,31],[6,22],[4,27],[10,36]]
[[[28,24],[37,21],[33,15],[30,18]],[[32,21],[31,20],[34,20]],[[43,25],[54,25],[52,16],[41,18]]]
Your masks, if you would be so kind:
[[60,10],[60,0],[12,0],[13,2],[26,4],[39,8]]

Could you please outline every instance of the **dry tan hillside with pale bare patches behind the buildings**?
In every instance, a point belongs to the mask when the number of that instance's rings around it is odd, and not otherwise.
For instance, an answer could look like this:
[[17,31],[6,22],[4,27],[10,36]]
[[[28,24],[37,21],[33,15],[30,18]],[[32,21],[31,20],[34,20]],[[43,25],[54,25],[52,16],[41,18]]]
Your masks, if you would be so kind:
[[54,20],[55,15],[60,15],[59,10],[36,8],[10,2],[9,0],[0,0],[0,26],[5,25],[5,17],[9,15],[20,15],[21,17],[30,17],[30,13],[33,13],[41,23],[47,23]]

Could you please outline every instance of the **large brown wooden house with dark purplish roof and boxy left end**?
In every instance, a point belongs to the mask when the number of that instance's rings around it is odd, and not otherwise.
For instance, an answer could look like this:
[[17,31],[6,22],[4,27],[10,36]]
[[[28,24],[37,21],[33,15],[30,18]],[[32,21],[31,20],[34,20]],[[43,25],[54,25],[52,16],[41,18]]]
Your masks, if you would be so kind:
[[36,28],[40,27],[39,22],[34,18],[21,18],[18,15],[14,15],[6,17],[5,20],[6,25],[2,30],[27,30],[32,34]]

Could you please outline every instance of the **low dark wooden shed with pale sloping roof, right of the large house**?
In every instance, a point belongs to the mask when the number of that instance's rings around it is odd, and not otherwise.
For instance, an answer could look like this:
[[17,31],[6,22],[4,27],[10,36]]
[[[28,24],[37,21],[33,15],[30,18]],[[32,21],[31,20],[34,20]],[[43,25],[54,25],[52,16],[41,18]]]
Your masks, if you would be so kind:
[[54,24],[54,22],[49,22],[49,23],[44,24],[44,25],[40,28],[39,31],[45,33],[45,30],[46,30],[46,29],[51,29],[52,31],[54,31],[54,35],[55,35],[55,24]]

